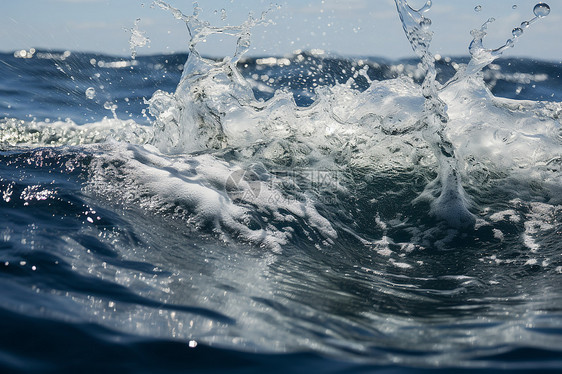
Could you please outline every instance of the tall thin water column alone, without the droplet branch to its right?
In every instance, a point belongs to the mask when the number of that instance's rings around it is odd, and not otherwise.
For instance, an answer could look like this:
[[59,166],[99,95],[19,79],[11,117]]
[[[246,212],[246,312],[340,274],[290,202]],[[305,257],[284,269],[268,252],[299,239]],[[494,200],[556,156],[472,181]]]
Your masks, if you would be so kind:
[[474,224],[475,218],[468,209],[469,199],[462,187],[454,147],[445,135],[447,109],[439,98],[435,58],[429,50],[433,38],[433,32],[429,30],[431,20],[423,16],[431,8],[432,2],[428,0],[418,10],[412,8],[406,0],[395,0],[395,3],[406,37],[426,71],[422,83],[424,116],[419,121],[419,126],[439,163],[437,178],[427,186],[420,198],[432,200],[432,213],[451,226],[468,227]]

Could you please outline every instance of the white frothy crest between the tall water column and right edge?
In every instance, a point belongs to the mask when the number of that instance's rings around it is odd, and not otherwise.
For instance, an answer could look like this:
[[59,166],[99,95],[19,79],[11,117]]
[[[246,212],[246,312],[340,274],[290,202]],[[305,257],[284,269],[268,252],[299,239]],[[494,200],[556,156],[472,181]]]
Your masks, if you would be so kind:
[[441,96],[465,172],[484,170],[518,183],[538,183],[553,203],[561,201],[559,103],[496,98],[478,76],[448,87]]

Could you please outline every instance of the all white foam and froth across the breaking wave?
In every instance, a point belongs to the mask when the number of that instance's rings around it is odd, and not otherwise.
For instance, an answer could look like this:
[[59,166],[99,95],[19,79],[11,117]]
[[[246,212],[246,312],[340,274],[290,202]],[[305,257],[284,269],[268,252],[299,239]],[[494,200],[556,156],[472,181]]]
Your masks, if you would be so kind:
[[[337,233],[319,213],[319,192],[295,189],[291,193],[298,199],[289,196],[279,187],[283,181],[271,183],[280,178],[272,173],[274,168],[343,174],[357,169],[414,170],[424,178],[438,174],[412,204],[428,200],[428,214],[454,227],[470,226],[485,208],[472,202],[465,187],[503,184],[501,188],[518,196],[530,189],[517,191],[513,186],[536,184],[550,203],[561,199],[559,103],[495,98],[481,75],[462,69],[441,88],[434,80],[433,57],[431,63],[424,60],[429,78],[422,87],[402,76],[373,81],[360,92],[351,88],[351,80],[318,88],[315,103],[307,108],[298,107],[292,93],[283,90],[267,101],[257,100],[236,63],[249,47],[247,34],[263,17],[216,28],[198,20],[197,11],[185,16],[163,2],[158,5],[193,26],[192,53],[176,91],[157,91],[148,101],[153,128],[118,119],[84,126],[4,120],[0,141],[54,146],[130,143],[104,146],[105,153],[93,164],[91,192],[156,214],[181,212],[195,227],[211,225],[225,238],[239,236],[276,249],[291,237],[287,222],[304,220],[327,244]],[[406,32],[421,32],[429,43],[427,19],[409,9],[411,19],[406,21],[413,23],[405,26]],[[223,32],[244,36],[235,55],[222,61],[202,58],[197,44],[206,35]],[[428,45],[416,48],[427,60]],[[288,64],[290,60],[282,65]],[[235,156],[226,161],[225,152]],[[229,195],[228,177],[246,172],[257,179],[241,178],[239,193]],[[345,190],[350,183],[343,178],[338,188]],[[259,228],[248,227],[252,215]],[[505,216],[517,217],[496,212],[489,219],[498,222]]]

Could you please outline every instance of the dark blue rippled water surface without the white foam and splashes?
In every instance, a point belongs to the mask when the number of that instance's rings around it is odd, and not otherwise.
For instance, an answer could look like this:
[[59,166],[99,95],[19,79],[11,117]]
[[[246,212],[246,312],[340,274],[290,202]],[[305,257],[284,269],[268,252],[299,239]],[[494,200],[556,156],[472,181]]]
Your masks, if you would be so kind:
[[[57,121],[84,126],[113,118],[149,128],[153,118],[146,100],[157,90],[174,92],[186,58],[0,54],[0,126]],[[297,106],[307,108],[319,86],[343,84],[354,67],[365,65],[374,81],[422,78],[414,60],[306,52],[286,58],[288,66],[258,58],[240,62],[256,98],[265,101],[276,90],[288,90]],[[438,61],[438,79],[446,81],[455,64],[466,62]],[[500,59],[483,78],[497,97],[556,104],[562,101],[561,72],[556,63]],[[360,76],[349,89],[364,91],[369,84]],[[93,98],[86,95],[90,87]],[[487,226],[452,235],[427,214],[427,203],[410,204],[434,171],[394,170],[367,178],[365,169],[346,169],[338,173],[355,181],[354,189],[318,198],[324,203],[317,210],[335,227],[337,239],[324,243],[306,216],[295,215],[292,240],[279,252],[183,216],[190,207],[181,201],[162,203],[155,212],[147,208],[159,198],[153,192],[139,187],[139,196],[121,196],[129,193],[123,186],[130,181],[120,171],[130,160],[190,180],[205,152],[162,158],[192,163],[192,169],[178,171],[120,140],[48,146],[6,139],[3,132],[2,373],[562,370],[562,210],[555,203],[548,218],[528,223],[544,228],[534,237],[541,244],[535,255],[521,244],[529,230],[524,221],[499,221],[494,227],[505,236],[501,242]],[[108,156],[118,151],[134,156]],[[240,152],[213,155],[233,162]],[[559,165],[556,157],[560,154],[553,155],[553,168]],[[251,170],[290,172],[263,165]],[[476,204],[536,218],[543,205],[533,204],[549,202],[541,186],[499,189],[494,183],[501,176],[488,177],[489,184],[468,188]],[[96,191],[94,182],[117,190]],[[223,193],[224,186],[212,188]],[[314,186],[299,188],[319,194]],[[333,196],[338,199],[331,204]],[[382,202],[373,208],[377,200]],[[275,212],[253,209],[248,226],[286,229]],[[397,215],[409,218],[386,227],[373,218],[394,222]],[[416,249],[402,257],[406,265],[394,266],[368,251],[359,237],[372,242],[391,237],[393,250],[399,251],[400,243]],[[424,265],[410,266],[416,263]]]

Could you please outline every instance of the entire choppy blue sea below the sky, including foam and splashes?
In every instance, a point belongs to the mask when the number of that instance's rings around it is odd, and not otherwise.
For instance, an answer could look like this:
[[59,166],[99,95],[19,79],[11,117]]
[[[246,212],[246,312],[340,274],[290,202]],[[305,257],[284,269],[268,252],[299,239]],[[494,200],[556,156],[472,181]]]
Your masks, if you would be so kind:
[[0,54],[0,371],[562,370],[562,66],[396,3],[419,59]]

